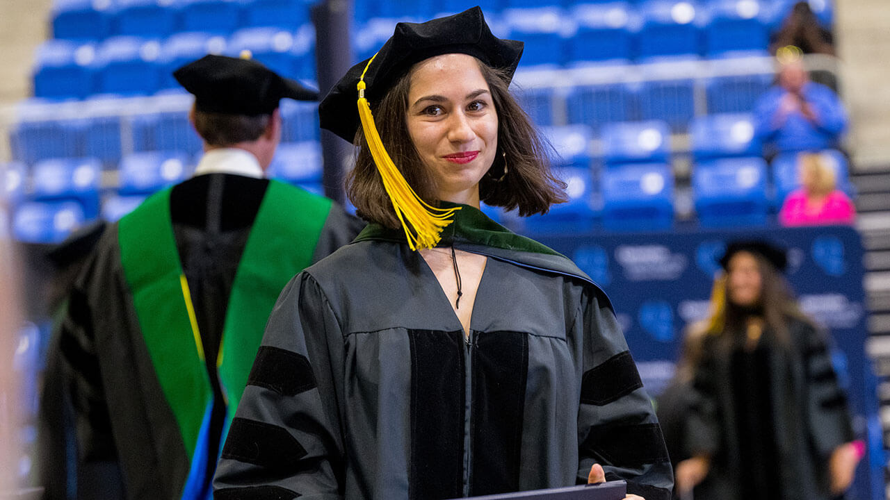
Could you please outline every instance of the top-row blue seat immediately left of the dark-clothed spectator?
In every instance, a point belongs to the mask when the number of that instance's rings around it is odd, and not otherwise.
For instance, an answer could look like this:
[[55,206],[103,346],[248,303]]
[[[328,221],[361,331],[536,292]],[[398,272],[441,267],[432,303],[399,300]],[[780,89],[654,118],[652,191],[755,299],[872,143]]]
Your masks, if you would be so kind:
[[765,9],[759,0],[716,0],[704,28],[705,53],[763,50],[769,43]]

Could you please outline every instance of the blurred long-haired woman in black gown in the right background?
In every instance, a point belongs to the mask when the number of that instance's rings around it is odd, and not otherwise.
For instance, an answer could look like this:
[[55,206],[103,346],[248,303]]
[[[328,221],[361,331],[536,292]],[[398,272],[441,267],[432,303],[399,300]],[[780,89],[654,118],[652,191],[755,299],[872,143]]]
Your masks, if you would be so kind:
[[725,300],[706,322],[686,423],[692,458],[677,465],[678,489],[700,483],[696,500],[842,494],[862,451],[828,339],[781,277],[785,253],[736,242],[720,263]]

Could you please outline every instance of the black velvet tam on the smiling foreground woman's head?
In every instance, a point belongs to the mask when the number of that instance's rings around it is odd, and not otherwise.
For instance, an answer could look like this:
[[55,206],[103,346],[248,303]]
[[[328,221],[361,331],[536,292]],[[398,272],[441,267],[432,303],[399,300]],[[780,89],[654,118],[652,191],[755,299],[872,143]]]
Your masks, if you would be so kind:
[[422,23],[400,22],[370,66],[368,60],[353,66],[321,101],[321,128],[349,142],[355,139],[360,127],[356,85],[366,67],[365,97],[374,103],[417,62],[446,53],[472,55],[512,78],[522,57],[522,42],[492,35],[479,7]]

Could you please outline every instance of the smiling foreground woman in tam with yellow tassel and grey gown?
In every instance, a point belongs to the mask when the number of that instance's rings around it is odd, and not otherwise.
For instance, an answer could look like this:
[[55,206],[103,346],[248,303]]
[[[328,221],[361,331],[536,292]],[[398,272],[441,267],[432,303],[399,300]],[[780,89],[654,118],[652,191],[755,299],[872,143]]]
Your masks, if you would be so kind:
[[358,148],[348,191],[370,224],[281,294],[216,498],[603,479],[669,498],[659,424],[605,294],[479,210],[539,214],[563,198],[507,91],[521,54],[478,7],[400,23],[321,103],[321,126]]

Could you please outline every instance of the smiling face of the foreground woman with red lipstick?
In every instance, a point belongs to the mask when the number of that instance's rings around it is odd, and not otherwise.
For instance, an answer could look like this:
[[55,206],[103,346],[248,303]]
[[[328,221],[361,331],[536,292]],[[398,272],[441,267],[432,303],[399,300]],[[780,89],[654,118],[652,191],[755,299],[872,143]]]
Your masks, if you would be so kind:
[[498,112],[473,56],[444,54],[410,75],[408,132],[437,198],[479,206],[479,181],[498,150]]

